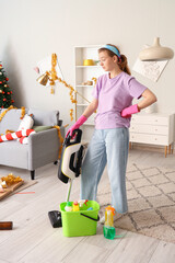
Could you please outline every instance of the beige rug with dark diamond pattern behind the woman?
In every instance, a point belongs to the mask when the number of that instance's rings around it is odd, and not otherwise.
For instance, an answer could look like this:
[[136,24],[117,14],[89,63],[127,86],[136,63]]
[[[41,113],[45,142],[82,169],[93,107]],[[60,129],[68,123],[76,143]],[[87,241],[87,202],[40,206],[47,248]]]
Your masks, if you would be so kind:
[[[175,170],[165,168],[127,169],[127,215],[118,216],[115,227],[175,243]],[[98,187],[104,209],[110,204],[110,186]]]

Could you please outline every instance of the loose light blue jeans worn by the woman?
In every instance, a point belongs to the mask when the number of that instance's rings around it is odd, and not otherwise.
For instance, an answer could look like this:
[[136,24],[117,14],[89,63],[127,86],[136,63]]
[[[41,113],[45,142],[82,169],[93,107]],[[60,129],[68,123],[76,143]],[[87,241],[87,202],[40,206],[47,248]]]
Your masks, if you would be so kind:
[[94,132],[82,164],[81,199],[96,199],[97,185],[107,163],[112,205],[118,213],[128,210],[126,194],[128,148],[128,128]]

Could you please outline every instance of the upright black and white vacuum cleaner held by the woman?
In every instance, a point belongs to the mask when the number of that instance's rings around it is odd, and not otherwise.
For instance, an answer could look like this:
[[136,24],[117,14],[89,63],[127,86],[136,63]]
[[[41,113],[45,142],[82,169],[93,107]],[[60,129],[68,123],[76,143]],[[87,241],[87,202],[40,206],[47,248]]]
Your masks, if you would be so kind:
[[[81,137],[82,130],[75,129],[73,130],[72,137],[68,135],[68,137],[65,138],[62,146],[58,178],[66,184],[69,182],[67,202],[69,202],[70,198],[72,181],[81,173],[81,164],[85,150],[85,147],[81,145]],[[62,226],[60,211],[49,211],[48,216],[54,228]]]

